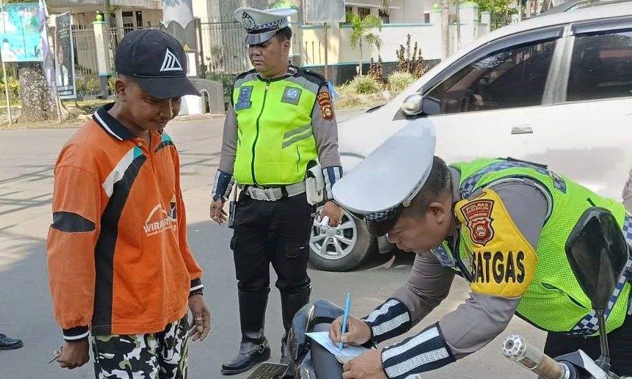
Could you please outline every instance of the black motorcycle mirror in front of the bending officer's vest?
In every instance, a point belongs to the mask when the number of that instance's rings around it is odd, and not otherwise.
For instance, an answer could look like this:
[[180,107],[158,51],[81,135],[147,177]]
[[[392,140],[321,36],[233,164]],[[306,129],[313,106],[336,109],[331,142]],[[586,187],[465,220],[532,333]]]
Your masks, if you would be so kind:
[[593,310],[605,310],[628,259],[628,246],[608,210],[584,212],[567,240],[566,255]]

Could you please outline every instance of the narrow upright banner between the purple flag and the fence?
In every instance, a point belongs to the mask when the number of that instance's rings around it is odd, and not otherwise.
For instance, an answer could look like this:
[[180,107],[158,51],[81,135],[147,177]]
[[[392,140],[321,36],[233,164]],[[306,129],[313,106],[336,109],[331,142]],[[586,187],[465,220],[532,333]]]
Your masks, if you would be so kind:
[[55,82],[59,98],[76,98],[74,82],[74,45],[70,12],[56,17]]

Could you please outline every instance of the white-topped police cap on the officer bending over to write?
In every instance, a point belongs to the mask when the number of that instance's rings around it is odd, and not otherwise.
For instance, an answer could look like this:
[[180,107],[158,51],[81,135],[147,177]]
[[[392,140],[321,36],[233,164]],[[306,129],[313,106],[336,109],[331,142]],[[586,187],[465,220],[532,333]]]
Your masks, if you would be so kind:
[[428,179],[435,145],[432,125],[406,125],[336,182],[335,201],[386,234]]

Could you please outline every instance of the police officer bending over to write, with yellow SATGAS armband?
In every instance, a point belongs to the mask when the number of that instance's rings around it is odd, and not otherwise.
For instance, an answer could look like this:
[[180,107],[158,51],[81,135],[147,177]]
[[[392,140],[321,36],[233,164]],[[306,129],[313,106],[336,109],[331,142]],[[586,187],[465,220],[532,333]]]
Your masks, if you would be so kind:
[[[351,318],[335,342],[381,343],[407,332],[450,292],[454,274],[470,299],[420,334],[347,362],[343,378],[412,378],[463,358],[503,332],[514,314],[549,332],[545,352],[600,355],[591,302],[565,244],[585,211],[609,210],[632,245],[624,206],[520,160],[478,159],[447,166],[434,156],[435,134],[410,124],[333,188],[335,200],[363,215],[372,235],[416,252],[408,281],[365,318]],[[358,188],[362,188],[358,191]],[[606,311],[611,370],[632,375],[632,256]]]

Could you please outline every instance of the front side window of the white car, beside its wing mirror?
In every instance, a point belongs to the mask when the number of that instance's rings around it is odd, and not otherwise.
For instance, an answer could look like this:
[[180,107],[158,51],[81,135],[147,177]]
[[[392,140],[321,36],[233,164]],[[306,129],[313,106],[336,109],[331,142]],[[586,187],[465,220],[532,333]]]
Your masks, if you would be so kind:
[[512,46],[474,61],[424,97],[441,113],[540,105],[556,41]]

